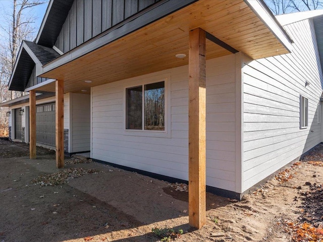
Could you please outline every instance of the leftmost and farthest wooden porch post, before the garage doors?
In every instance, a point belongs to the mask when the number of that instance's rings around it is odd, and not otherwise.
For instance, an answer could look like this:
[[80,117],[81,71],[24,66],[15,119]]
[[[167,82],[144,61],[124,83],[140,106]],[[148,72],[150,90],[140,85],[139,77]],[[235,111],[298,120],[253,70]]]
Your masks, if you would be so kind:
[[36,158],[36,91],[29,91],[29,157]]

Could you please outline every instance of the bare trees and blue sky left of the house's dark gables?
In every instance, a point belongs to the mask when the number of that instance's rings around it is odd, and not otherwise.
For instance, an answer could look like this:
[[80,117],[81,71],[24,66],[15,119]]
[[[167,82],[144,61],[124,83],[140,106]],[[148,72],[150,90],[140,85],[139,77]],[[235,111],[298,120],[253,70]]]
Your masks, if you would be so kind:
[[[23,39],[32,40],[35,37],[34,22],[36,17],[32,8],[44,4],[41,0],[12,0],[12,8],[3,10],[0,19],[0,102],[5,102],[23,95],[22,92],[9,91],[8,82],[12,74],[19,47]],[[6,135],[2,130],[8,130],[8,109],[0,108],[0,136]]]

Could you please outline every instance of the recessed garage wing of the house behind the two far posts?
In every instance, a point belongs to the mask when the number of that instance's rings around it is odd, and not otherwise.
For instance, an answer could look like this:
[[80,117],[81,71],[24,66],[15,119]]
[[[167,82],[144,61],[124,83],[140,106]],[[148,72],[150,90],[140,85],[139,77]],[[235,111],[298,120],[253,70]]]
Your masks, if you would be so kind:
[[[29,143],[29,95],[0,104],[9,107],[9,138]],[[55,149],[55,93],[36,96],[37,145]],[[22,111],[20,111],[22,110]],[[90,95],[64,94],[64,152],[90,152]]]

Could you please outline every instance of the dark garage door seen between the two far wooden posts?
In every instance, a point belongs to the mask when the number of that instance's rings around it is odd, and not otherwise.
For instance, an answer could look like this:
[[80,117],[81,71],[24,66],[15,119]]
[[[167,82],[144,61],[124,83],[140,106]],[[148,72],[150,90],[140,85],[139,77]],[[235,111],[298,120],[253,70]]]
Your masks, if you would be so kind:
[[36,140],[55,147],[55,103],[36,106]]

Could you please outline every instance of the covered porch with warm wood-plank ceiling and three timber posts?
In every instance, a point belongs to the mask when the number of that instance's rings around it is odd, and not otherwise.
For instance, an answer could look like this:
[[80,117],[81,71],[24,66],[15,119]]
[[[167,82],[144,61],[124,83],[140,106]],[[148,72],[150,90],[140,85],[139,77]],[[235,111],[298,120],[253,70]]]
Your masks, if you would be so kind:
[[[91,93],[91,87],[188,65],[189,223],[201,228],[206,219],[206,59],[237,52],[252,59],[284,54],[291,49],[292,41],[262,1],[200,0],[168,13],[163,11],[166,4],[42,66],[39,76],[47,80],[26,90],[30,92],[30,158],[36,156],[36,91],[56,93],[56,160],[57,167],[63,167],[64,93]],[[157,16],[150,23],[140,19],[150,14]],[[176,54],[184,57],[177,58]],[[241,72],[242,63],[236,68]],[[241,86],[235,88],[241,93]],[[243,118],[241,103],[240,100],[240,109],[236,110],[238,127]],[[241,144],[239,139],[241,134],[236,135],[236,142]],[[241,152],[240,145],[237,159]]]

